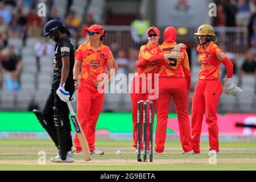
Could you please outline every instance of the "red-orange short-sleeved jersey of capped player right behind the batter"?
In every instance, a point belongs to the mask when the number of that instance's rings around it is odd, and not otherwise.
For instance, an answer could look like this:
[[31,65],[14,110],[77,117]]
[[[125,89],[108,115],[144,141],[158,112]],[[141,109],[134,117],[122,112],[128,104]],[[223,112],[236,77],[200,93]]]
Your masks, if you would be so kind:
[[75,52],[75,60],[82,61],[81,81],[94,85],[100,73],[105,73],[106,61],[113,58],[108,46],[101,44],[94,51],[90,43],[82,44]]

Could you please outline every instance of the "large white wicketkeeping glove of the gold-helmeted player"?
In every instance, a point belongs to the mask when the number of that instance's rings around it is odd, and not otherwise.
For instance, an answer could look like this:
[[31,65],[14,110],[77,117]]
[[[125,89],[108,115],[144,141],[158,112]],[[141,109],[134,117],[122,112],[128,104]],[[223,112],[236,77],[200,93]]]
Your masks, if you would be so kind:
[[241,96],[243,90],[232,81],[232,78],[224,78],[223,80],[225,85],[225,94],[232,95],[234,97]]

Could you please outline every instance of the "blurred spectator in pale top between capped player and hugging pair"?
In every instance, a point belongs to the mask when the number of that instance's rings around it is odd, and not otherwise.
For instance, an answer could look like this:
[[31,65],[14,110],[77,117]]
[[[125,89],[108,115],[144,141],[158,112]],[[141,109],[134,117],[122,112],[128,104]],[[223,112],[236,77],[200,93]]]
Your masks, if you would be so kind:
[[124,50],[120,50],[118,51],[118,56],[115,59],[115,61],[117,61],[118,64],[118,69],[116,71],[116,73],[125,73],[128,74],[128,67],[129,67],[129,60],[126,57],[126,52]]

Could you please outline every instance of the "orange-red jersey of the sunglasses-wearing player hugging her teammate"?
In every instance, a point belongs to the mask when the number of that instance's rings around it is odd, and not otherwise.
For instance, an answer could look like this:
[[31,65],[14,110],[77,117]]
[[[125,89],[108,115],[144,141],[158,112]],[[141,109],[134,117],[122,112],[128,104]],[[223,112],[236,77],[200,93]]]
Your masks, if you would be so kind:
[[[154,49],[154,50],[153,50]],[[159,47],[154,46],[153,44],[145,44],[141,46],[141,49],[139,50],[139,59],[145,59],[145,60],[151,60],[154,55],[158,55]],[[137,68],[134,76],[139,76],[142,73],[157,73],[159,69],[158,64],[154,65],[144,65],[143,67]]]

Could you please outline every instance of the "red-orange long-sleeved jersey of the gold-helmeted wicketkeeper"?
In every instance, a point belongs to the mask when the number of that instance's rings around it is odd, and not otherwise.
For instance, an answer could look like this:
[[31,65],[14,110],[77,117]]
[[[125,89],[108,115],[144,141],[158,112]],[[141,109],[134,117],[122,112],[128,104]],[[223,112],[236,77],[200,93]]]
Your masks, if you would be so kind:
[[198,75],[200,80],[213,80],[218,78],[220,76],[221,62],[226,66],[227,71],[229,69],[228,77],[232,77],[233,64],[216,44],[210,42],[205,51],[203,46],[197,46],[197,51],[199,52],[201,62],[201,69]]

